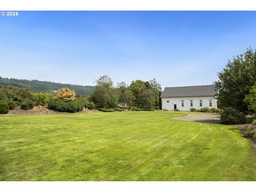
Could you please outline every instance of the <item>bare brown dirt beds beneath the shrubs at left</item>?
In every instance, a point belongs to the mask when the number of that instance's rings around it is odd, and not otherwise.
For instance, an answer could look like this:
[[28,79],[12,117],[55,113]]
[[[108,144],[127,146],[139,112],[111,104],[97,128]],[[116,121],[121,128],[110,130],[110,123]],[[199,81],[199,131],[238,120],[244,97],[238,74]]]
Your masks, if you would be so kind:
[[[81,114],[81,113],[102,113],[102,112],[99,110],[83,109],[82,111],[79,111],[77,113]],[[47,109],[46,107],[35,106],[33,109],[29,109],[29,110],[23,110],[20,107],[16,107],[14,110],[9,110],[8,114],[4,114],[4,115],[40,115],[40,114],[70,114],[70,113],[58,112],[51,109]]]

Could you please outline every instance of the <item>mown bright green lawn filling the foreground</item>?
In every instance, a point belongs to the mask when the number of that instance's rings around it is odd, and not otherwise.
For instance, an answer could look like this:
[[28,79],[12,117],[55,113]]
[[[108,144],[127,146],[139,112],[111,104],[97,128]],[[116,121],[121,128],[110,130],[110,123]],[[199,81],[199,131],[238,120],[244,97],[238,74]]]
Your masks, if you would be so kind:
[[256,180],[256,153],[236,127],[169,119],[185,114],[0,116],[0,180]]

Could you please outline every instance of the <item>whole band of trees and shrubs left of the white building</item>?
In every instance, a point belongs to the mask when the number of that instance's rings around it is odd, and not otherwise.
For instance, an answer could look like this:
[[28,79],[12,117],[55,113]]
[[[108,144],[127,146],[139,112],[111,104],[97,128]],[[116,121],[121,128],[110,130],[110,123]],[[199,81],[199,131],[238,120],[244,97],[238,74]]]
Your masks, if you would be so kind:
[[0,114],[6,114],[15,107],[28,110],[34,106],[45,106],[59,112],[75,113],[84,108],[102,111],[122,111],[158,109],[161,85],[152,79],[149,82],[132,81],[117,83],[108,76],[96,79],[96,86],[90,97],[77,94],[68,87],[57,92],[32,92],[26,87],[0,86]]

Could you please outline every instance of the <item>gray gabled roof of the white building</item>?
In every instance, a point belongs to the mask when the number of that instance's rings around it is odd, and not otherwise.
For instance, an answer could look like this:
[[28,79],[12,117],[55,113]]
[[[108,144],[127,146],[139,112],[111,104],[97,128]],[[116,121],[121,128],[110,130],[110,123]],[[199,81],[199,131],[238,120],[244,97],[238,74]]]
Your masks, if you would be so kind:
[[183,86],[183,87],[165,87],[161,98],[166,97],[198,97],[214,96],[214,85]]

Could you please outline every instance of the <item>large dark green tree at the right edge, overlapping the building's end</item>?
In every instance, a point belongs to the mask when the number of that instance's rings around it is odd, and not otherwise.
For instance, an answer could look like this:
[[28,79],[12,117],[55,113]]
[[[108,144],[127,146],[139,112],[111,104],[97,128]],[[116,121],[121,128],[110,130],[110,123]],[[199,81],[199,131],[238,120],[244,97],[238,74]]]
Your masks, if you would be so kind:
[[233,107],[239,111],[248,110],[245,95],[256,83],[256,51],[250,47],[244,54],[228,61],[226,68],[218,73],[219,81],[214,82],[218,90],[220,107]]

